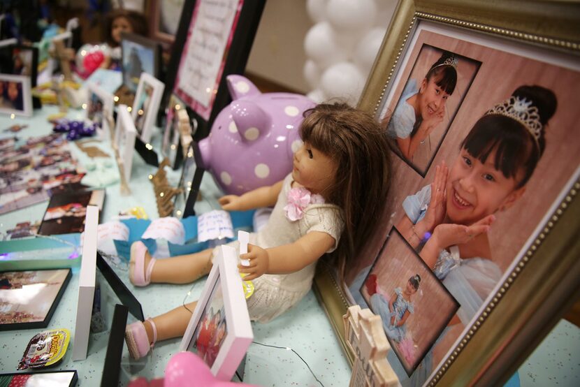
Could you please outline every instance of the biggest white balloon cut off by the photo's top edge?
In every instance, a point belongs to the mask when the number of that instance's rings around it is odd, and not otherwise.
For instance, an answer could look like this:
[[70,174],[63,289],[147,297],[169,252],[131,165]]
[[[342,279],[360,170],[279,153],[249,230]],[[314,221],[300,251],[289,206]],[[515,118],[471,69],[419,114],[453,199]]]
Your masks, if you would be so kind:
[[375,24],[377,6],[373,0],[328,0],[326,17],[338,31],[365,30]]

